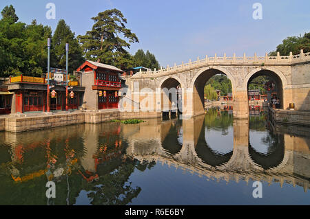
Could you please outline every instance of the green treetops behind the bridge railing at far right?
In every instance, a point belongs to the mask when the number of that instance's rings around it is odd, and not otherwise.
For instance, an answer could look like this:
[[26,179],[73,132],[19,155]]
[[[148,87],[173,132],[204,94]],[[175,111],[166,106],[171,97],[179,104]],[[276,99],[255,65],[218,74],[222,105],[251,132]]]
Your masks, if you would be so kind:
[[277,46],[276,51],[271,51],[269,56],[276,56],[277,52],[280,56],[289,56],[291,51],[293,55],[300,54],[300,49],[304,53],[310,51],[310,32],[304,33],[304,36],[289,36],[285,38],[280,45]]

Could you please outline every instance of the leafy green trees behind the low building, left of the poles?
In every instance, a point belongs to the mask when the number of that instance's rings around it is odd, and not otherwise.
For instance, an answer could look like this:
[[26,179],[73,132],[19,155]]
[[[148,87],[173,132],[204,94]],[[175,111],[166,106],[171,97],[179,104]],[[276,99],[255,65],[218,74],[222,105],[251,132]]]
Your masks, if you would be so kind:
[[30,25],[11,21],[6,16],[0,20],[0,77],[21,73],[40,76],[46,71],[45,44],[52,30],[35,20]]

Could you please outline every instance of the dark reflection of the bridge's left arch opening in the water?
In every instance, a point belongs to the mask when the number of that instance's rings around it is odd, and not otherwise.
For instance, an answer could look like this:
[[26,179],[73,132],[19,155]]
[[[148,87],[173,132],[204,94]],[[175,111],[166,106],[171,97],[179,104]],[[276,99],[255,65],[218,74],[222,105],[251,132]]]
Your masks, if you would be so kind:
[[182,120],[177,120],[175,124],[172,124],[167,136],[162,142],[163,148],[172,155],[180,152],[183,146],[183,142],[180,142],[180,137],[183,135],[181,128]]

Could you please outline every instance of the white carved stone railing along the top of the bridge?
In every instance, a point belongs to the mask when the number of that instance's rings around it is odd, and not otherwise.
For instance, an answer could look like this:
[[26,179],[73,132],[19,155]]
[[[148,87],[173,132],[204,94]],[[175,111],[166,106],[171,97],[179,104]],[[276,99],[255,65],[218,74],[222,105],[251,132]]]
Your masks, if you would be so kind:
[[210,64],[219,64],[219,65],[230,65],[230,64],[239,64],[239,65],[246,65],[246,64],[260,64],[260,65],[265,65],[265,64],[271,64],[271,65],[277,65],[277,64],[291,64],[291,63],[296,63],[296,62],[304,62],[310,60],[310,52],[304,53],[302,49],[300,50],[300,54],[294,55],[292,52],[290,52],[289,56],[280,56],[279,52],[277,53],[277,56],[268,56],[266,53],[265,56],[245,56],[243,54],[242,57],[237,57],[236,54],[232,57],[227,57],[226,54],[224,54],[223,57],[218,57],[216,54],[214,57],[208,57],[205,56],[205,58],[200,59],[199,57],[197,60],[192,61],[189,59],[189,62],[184,63],[182,62],[181,65],[176,65],[174,63],[174,66],[169,67],[167,65],[166,68],[161,67],[161,69],[154,69],[148,70],[148,71],[141,71],[139,73],[136,73],[133,77],[135,78],[138,76],[143,76],[143,74],[155,74],[155,73],[167,73],[168,71],[180,71],[180,70],[185,70],[185,69],[192,69],[196,67],[203,67],[204,65],[210,65]]

